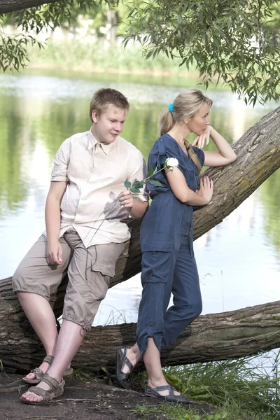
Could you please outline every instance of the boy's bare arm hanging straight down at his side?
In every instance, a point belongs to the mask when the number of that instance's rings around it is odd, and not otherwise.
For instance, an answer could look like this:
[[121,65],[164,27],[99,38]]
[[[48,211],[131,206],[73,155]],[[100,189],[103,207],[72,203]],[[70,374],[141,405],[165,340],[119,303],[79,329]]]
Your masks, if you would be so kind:
[[45,202],[45,227],[47,230],[48,264],[62,264],[62,247],[59,244],[60,203],[65,193],[67,181],[52,181]]

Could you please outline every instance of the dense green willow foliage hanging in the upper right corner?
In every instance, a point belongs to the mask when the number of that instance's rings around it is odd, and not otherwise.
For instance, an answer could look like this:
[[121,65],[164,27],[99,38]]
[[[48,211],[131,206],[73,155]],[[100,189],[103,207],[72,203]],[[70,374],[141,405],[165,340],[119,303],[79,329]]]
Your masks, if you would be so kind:
[[221,80],[246,103],[277,101],[280,42],[272,24],[277,4],[274,0],[153,0],[131,10],[125,43],[139,41],[146,58],[165,52],[181,57],[187,67],[195,63],[206,88]]

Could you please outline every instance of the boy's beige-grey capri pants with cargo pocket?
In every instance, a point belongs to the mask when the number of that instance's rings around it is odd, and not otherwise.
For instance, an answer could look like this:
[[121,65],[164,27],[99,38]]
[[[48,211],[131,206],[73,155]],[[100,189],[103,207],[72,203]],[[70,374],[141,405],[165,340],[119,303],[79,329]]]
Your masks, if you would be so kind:
[[50,300],[68,272],[62,318],[90,330],[100,302],[115,275],[116,262],[125,248],[121,244],[101,244],[85,248],[76,230],[71,228],[59,238],[63,263],[47,262],[47,238],[36,241],[13,275],[13,290],[36,293]]

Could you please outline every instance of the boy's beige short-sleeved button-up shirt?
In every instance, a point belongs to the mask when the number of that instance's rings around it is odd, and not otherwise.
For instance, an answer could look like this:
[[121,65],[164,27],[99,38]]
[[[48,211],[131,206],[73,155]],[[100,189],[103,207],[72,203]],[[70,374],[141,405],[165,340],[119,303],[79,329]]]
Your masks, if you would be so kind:
[[[53,162],[50,181],[68,181],[59,237],[75,228],[86,247],[130,239],[125,223],[130,216],[120,206],[118,195],[126,190],[126,180],[141,181],[147,176],[141,152],[122,137],[101,144],[87,131],[66,139]],[[148,200],[144,190],[134,198]]]

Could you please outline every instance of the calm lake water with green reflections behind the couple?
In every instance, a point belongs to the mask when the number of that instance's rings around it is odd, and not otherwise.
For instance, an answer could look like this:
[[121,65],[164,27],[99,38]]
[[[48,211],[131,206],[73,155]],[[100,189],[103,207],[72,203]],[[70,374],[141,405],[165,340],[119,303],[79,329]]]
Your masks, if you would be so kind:
[[[52,158],[76,132],[90,129],[92,92],[113,87],[132,105],[122,134],[148,157],[160,112],[193,80],[31,71],[0,76],[0,279],[13,274],[44,229]],[[199,86],[198,86],[199,87]],[[234,143],[276,108],[253,109],[224,90],[209,90],[210,121]],[[209,145],[214,150],[213,144]],[[280,172],[195,241],[203,314],[279,300]],[[140,275],[109,290],[94,325],[137,321]]]

